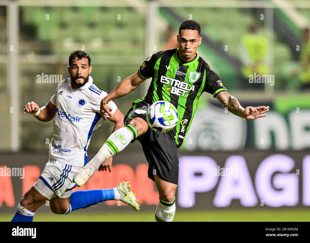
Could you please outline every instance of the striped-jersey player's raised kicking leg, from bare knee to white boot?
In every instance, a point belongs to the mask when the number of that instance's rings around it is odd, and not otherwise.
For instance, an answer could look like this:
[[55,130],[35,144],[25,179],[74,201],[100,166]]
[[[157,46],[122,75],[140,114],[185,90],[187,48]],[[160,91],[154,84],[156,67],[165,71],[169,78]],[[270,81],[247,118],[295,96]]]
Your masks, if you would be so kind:
[[142,118],[132,119],[126,127],[112,133],[95,157],[80,169],[73,178],[78,187],[83,186],[100,167],[100,164],[122,151],[132,140],[141,136],[148,130],[148,124]]

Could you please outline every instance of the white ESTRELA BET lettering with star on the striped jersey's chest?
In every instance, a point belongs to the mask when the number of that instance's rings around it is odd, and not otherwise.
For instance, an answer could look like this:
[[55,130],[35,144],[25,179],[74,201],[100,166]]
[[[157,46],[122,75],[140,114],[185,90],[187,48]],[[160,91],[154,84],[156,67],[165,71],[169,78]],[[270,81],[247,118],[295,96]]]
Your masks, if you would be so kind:
[[[189,91],[194,91],[195,86],[192,85],[190,88],[188,88],[188,84],[186,82],[172,79],[169,77],[162,76],[160,78],[161,83],[168,84],[169,86],[171,85],[172,87],[166,87],[166,91],[169,91],[171,94],[176,94],[179,97],[184,97],[184,95],[189,92]],[[171,91],[170,91],[171,90]]]

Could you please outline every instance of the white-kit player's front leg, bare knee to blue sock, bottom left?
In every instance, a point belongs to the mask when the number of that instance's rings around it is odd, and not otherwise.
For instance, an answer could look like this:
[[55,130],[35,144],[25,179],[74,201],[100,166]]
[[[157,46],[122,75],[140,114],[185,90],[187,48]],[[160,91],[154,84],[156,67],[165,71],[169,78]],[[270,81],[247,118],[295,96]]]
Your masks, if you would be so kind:
[[32,222],[34,212],[47,200],[49,200],[47,197],[43,196],[34,187],[31,187],[18,204],[17,212],[11,222]]

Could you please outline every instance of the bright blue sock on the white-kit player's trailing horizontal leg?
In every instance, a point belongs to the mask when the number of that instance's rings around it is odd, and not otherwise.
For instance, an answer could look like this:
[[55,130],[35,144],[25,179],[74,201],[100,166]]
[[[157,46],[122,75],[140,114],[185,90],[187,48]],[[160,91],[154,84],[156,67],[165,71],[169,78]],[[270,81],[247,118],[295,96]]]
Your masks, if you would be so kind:
[[70,196],[71,210],[87,208],[99,202],[114,200],[113,189],[100,189],[88,191],[75,191]]

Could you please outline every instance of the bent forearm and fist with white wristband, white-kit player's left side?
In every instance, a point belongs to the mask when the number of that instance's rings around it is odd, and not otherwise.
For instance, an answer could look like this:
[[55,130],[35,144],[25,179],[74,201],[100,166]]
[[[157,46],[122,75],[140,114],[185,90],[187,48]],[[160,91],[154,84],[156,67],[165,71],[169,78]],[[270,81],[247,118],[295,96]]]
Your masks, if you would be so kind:
[[41,108],[36,103],[31,101],[25,105],[23,113],[25,114],[27,112],[29,114],[35,114],[38,112],[38,110],[40,110],[40,112],[35,116],[35,118],[37,118],[39,121],[48,122],[55,117],[57,108],[51,103],[51,101],[48,102],[46,106]]

